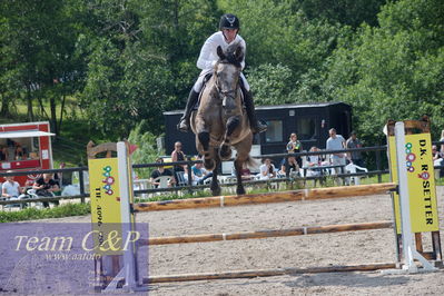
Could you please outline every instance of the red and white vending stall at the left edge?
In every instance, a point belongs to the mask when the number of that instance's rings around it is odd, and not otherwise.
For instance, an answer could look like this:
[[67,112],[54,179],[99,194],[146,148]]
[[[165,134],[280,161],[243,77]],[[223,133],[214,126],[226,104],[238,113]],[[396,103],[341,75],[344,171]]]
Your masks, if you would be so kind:
[[[50,132],[48,121],[0,125],[0,171],[52,169],[51,136],[55,134]],[[38,175],[17,176],[14,179],[26,186]]]

